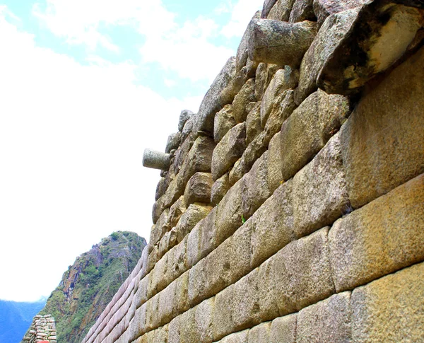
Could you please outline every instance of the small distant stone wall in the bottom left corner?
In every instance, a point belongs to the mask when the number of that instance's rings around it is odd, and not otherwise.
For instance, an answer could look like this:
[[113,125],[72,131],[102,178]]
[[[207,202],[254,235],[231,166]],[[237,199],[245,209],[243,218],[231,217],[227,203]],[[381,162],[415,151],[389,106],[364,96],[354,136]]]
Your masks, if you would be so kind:
[[36,315],[22,341],[56,343],[56,322],[52,315]]

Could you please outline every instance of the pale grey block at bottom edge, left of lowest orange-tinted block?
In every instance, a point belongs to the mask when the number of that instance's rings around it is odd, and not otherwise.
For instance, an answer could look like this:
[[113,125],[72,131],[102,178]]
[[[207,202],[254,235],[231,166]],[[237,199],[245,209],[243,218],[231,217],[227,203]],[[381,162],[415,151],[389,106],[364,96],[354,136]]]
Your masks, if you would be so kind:
[[353,342],[351,339],[351,292],[300,310],[296,343]]

